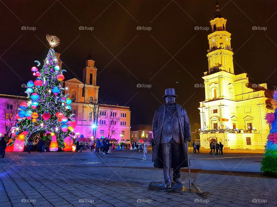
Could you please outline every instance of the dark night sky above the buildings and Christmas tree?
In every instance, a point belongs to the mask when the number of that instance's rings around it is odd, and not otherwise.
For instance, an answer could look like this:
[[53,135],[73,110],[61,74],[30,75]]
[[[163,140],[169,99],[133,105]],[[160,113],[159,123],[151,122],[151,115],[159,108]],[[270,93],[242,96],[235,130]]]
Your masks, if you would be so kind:
[[[33,79],[34,60],[42,62],[46,34],[59,37],[65,79],[82,81],[92,49],[98,68],[99,98],[106,104],[130,106],[131,124],[151,124],[173,87],[191,122],[200,122],[199,101],[205,99],[203,72],[208,70],[207,35],[216,1],[8,1],[0,2],[0,93],[25,95],[22,83]],[[276,1],[219,1],[231,32],[235,74],[248,73],[251,83],[276,86]],[[35,31],[21,30],[36,27]],[[79,30],[93,27],[93,31]],[[137,26],[151,27],[150,31]],[[252,30],[253,26],[267,30]],[[177,53],[177,54],[176,54]],[[175,55],[176,54],[176,55]],[[116,58],[115,58],[116,56]],[[174,58],[172,58],[172,56]],[[156,74],[156,75],[155,75]],[[178,83],[176,83],[178,82]],[[137,88],[138,83],[152,87]]]

